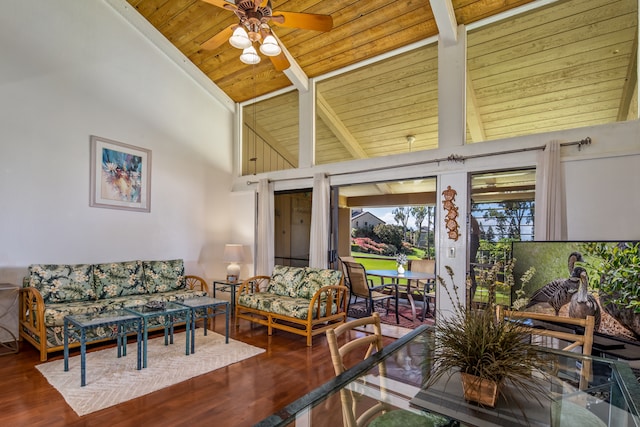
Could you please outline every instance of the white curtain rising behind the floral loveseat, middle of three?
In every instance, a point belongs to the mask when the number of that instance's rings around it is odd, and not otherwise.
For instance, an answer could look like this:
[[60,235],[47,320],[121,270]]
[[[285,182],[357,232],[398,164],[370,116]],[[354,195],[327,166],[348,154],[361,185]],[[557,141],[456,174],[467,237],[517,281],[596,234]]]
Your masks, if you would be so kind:
[[309,267],[327,268],[329,265],[329,191],[329,178],[323,173],[315,174],[311,201]]

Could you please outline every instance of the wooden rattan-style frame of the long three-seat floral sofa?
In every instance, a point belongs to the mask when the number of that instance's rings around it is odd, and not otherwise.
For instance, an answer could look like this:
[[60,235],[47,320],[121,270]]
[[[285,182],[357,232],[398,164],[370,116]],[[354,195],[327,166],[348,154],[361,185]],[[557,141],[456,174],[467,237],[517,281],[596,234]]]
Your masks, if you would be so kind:
[[[207,290],[207,284],[201,277],[185,276],[185,281],[186,287],[188,289],[193,290],[196,288],[196,286],[200,286],[201,291]],[[47,331],[44,324],[45,303],[42,295],[40,295],[40,292],[36,288],[20,288],[18,310],[18,328],[20,340],[29,342],[40,351],[41,362],[47,361],[49,353],[64,350],[63,345],[47,347]],[[154,330],[160,328],[161,327],[154,328]],[[29,331],[30,333],[27,333],[25,330]],[[38,337],[38,339],[34,337]],[[111,340],[111,338],[106,338],[104,340],[92,341],[92,344]],[[69,344],[69,348],[75,348],[79,346],[79,342]]]

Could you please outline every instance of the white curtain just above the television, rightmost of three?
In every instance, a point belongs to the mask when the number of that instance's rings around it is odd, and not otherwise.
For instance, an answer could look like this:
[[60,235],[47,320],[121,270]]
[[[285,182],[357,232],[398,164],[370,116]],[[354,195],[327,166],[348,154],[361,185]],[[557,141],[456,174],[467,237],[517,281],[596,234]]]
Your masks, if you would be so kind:
[[535,240],[565,240],[564,186],[560,142],[550,141],[538,155],[536,169]]

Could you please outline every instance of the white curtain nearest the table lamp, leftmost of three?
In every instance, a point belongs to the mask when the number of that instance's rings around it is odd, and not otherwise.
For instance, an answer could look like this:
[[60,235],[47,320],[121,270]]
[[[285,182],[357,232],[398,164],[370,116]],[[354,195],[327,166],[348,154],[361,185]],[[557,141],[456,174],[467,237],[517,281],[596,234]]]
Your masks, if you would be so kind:
[[273,184],[268,179],[258,182],[258,245],[256,274],[271,276],[273,271]]

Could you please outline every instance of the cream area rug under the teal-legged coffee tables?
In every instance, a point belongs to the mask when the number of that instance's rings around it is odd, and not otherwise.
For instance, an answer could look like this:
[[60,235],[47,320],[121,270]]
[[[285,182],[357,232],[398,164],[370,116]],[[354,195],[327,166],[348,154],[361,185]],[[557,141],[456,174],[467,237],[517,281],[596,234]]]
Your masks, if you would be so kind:
[[164,338],[150,339],[147,368],[136,370],[137,345],[129,343],[127,356],[117,358],[115,348],[87,353],[87,385],[80,387],[80,356],[69,358],[69,371],[64,360],[37,365],[45,376],[80,416],[160,390],[198,375],[253,357],[265,350],[202,329],[196,333],[196,352],[185,355],[185,334],[177,333],[173,345]]

